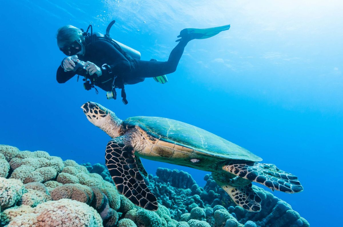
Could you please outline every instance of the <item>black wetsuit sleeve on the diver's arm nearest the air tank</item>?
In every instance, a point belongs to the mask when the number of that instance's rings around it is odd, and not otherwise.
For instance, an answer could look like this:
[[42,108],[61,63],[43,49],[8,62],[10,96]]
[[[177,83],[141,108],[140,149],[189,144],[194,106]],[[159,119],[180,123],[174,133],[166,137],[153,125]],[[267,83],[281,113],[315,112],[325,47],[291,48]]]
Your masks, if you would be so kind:
[[[105,58],[108,59],[108,62],[105,62],[105,64],[108,64],[110,67],[110,70],[102,69],[103,79],[106,77],[113,77],[114,75],[125,75],[131,72],[130,62],[113,45],[107,41],[98,40],[95,42],[95,46],[99,52],[102,52]],[[98,67],[101,66],[102,65],[98,65]],[[110,71],[112,71],[112,73],[109,73]]]

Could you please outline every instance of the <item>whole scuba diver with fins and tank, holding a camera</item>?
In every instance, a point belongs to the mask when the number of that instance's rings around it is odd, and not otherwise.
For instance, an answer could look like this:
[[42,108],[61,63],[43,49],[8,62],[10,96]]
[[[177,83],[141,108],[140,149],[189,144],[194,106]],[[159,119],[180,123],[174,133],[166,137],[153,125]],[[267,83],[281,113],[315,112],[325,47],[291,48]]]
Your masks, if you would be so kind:
[[[228,30],[230,25],[221,27],[195,29],[186,28],[178,36],[178,44],[170,52],[168,61],[140,60],[140,53],[109,36],[112,21],[106,34],[93,33],[92,25],[87,31],[72,25],[65,25],[57,31],[57,45],[67,56],[62,60],[57,69],[56,79],[58,83],[65,83],[74,75],[84,76],[84,88],[100,87],[107,92],[107,98],[116,99],[115,88],[121,89],[121,97],[127,104],[124,85],[136,84],[144,81],[147,77],[154,77],[160,83],[167,82],[165,74],[173,73],[184,52],[187,43],[192,39],[205,39],[212,37],[221,31]],[[88,33],[91,28],[91,33]],[[78,76],[79,80],[79,76]]]

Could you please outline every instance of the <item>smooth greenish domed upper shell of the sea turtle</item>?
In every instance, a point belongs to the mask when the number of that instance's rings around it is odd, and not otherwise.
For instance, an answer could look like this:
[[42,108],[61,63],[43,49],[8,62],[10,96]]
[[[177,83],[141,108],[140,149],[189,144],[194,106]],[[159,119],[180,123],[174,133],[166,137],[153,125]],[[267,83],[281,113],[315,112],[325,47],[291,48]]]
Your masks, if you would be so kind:
[[220,136],[181,121],[161,117],[131,117],[123,121],[126,129],[139,126],[156,139],[227,159],[259,162],[262,158],[252,154]]

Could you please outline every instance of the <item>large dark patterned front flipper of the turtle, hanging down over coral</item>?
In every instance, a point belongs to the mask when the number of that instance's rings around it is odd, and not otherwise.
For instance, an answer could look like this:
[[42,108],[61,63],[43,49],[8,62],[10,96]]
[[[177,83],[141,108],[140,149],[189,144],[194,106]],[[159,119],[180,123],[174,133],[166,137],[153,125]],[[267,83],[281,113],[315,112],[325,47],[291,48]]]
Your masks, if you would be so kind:
[[116,184],[118,192],[133,204],[150,211],[158,209],[157,199],[151,193],[139,172],[134,159],[134,148],[124,143],[125,136],[108,142],[106,147],[106,166]]

